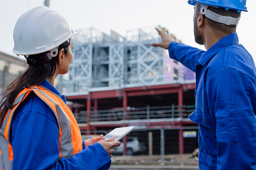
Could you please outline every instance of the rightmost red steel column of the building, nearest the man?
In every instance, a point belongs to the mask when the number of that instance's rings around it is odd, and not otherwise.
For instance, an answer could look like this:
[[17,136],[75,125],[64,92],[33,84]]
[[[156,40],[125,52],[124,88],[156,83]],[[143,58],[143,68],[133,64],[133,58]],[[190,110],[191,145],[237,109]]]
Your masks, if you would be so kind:
[[[178,92],[178,105],[182,106],[183,105],[183,85],[181,85],[181,87],[179,88],[179,92]],[[180,107],[180,109],[182,109],[182,107]],[[182,116],[182,111],[179,112],[180,116],[179,117],[183,117]],[[182,126],[182,124],[180,125]],[[183,138],[183,129],[179,129],[179,153],[183,154],[184,153],[184,138]]]

